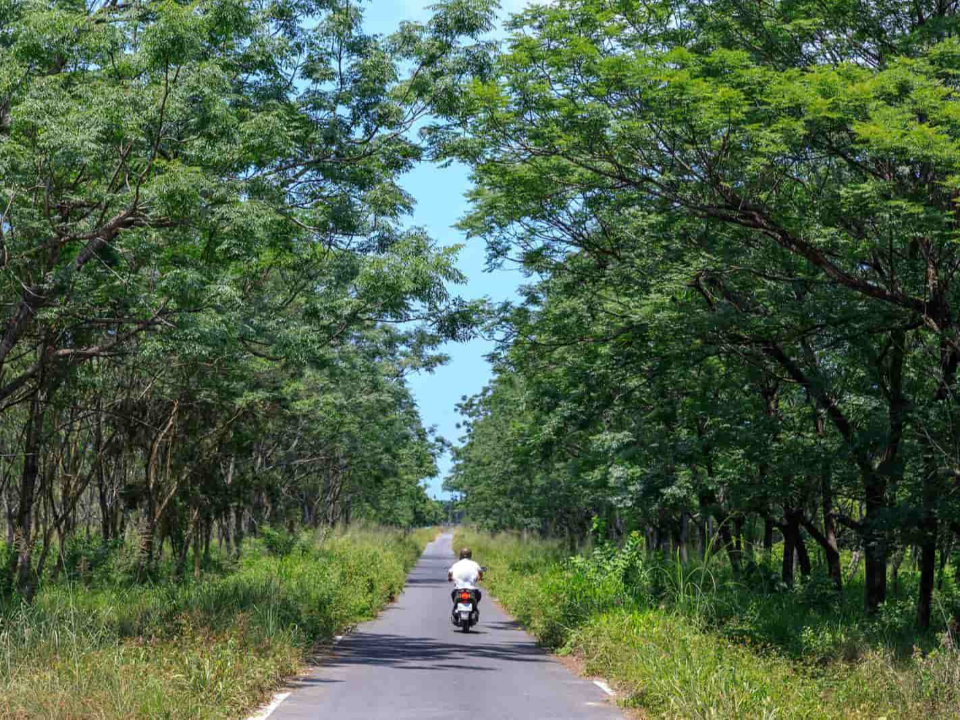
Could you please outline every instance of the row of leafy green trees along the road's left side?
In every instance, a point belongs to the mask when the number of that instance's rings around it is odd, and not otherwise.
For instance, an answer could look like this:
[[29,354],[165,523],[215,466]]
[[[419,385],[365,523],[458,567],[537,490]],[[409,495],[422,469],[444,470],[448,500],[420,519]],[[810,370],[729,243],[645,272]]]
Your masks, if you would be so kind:
[[481,9],[0,0],[0,587],[80,531],[182,571],[214,529],[434,519],[404,378],[476,308],[397,178]]

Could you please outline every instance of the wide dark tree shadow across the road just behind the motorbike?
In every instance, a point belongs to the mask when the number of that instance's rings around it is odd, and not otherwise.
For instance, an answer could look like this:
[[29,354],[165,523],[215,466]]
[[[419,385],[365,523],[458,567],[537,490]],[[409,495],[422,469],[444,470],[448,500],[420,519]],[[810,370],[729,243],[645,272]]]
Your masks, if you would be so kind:
[[333,657],[325,665],[374,665],[404,670],[509,671],[509,664],[494,668],[476,663],[478,660],[530,663],[544,662],[546,659],[546,654],[530,642],[480,641],[464,645],[434,638],[358,632],[351,635],[349,641],[337,646]]

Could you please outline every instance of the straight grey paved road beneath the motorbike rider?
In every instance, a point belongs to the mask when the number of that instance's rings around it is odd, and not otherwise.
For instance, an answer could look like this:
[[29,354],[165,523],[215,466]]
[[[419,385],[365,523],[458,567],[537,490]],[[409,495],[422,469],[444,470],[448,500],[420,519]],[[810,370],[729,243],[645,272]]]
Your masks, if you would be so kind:
[[270,720],[620,720],[600,688],[538,649],[489,597],[472,632],[451,624],[451,540],[430,543],[398,601],[343,638]]

